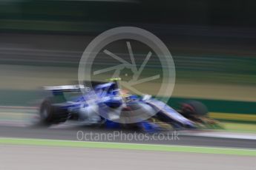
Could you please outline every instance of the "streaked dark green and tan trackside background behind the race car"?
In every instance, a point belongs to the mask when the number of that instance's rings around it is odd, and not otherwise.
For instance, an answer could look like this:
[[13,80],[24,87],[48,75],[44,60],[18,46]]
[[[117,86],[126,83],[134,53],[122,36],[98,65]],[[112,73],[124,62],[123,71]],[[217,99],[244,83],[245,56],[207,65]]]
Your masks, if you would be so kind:
[[255,132],[255,9],[254,0],[0,0],[0,105],[33,106],[39,87],[76,81],[96,35],[132,26],[174,58],[170,105],[197,99],[230,129]]

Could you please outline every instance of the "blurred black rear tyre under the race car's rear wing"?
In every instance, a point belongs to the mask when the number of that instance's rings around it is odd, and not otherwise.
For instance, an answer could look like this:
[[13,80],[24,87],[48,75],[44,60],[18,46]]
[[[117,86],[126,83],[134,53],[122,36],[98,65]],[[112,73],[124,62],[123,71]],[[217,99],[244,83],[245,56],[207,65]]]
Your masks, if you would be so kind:
[[40,106],[39,116],[42,125],[50,126],[68,120],[69,113],[66,109],[54,106],[53,98],[46,98]]

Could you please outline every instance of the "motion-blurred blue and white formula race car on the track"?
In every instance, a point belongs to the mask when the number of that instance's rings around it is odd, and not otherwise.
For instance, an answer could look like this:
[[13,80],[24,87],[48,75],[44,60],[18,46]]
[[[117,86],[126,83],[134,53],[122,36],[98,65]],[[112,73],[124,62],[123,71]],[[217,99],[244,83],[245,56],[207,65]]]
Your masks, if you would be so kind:
[[[207,117],[207,108],[200,102],[183,103],[181,110],[176,111],[149,95],[140,97],[124,92],[118,81],[118,78],[104,83],[91,81],[92,88],[85,94],[80,91],[88,88],[85,86],[46,86],[44,89],[51,96],[40,105],[41,123],[50,126],[77,120],[85,125],[136,128],[145,132],[217,124]],[[136,116],[141,114],[147,119]]]

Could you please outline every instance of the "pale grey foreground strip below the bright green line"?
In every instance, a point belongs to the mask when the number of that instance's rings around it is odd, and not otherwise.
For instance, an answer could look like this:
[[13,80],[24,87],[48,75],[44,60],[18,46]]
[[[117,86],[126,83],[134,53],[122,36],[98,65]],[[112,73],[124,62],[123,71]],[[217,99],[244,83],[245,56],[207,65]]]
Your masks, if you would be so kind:
[[0,150],[0,169],[255,169],[255,157],[225,154],[10,145]]

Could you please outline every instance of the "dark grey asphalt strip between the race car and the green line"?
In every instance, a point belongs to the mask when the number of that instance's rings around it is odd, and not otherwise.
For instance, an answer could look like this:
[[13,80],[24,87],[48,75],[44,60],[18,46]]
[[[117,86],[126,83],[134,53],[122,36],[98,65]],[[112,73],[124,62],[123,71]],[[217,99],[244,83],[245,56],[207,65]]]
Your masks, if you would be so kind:
[[[78,136],[78,132],[82,132]],[[140,134],[140,132],[127,132],[114,129],[98,129],[88,127],[59,127],[43,128],[39,126],[14,127],[0,126],[1,137],[21,137],[21,138],[39,138],[54,140],[83,140],[83,141],[100,141],[100,142],[121,142],[121,143],[151,143],[164,145],[181,145],[181,146],[220,146],[233,148],[256,149],[255,140],[223,138],[223,137],[199,137],[183,135],[178,133],[177,137],[166,133],[161,135]],[[92,134],[92,135],[91,135]],[[109,134],[115,134],[115,137],[107,138]],[[170,134],[170,132],[169,132]],[[85,135],[87,135],[85,137]],[[142,136],[143,135],[143,136]],[[102,137],[103,136],[103,137]],[[132,137],[131,137],[132,136]],[[148,140],[149,139],[149,140]]]

